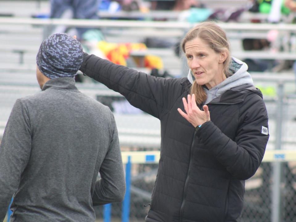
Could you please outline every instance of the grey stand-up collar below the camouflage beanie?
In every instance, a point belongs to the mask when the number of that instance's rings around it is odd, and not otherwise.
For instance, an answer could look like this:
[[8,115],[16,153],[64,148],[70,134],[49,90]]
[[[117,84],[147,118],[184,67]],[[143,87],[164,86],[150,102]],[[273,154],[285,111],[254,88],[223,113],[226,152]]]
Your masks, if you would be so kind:
[[75,86],[75,79],[72,77],[59,77],[48,80],[42,87],[42,91],[47,89],[69,90],[79,92]]

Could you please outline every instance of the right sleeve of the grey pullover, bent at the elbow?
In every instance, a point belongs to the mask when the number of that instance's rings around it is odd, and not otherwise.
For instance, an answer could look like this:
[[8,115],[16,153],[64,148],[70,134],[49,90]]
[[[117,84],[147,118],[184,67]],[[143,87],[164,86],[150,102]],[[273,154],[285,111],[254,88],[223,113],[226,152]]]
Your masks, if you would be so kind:
[[101,178],[96,181],[92,196],[94,206],[120,202],[125,195],[126,184],[114,117],[113,123],[114,131],[111,143],[99,171]]

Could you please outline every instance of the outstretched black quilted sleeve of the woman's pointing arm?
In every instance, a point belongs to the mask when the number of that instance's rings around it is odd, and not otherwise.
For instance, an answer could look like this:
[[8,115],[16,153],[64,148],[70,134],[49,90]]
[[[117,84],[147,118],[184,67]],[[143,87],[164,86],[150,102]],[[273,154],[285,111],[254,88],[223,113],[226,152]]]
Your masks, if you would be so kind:
[[154,77],[86,53],[80,71],[119,92],[131,105],[156,118],[175,102],[174,95],[181,90],[181,87],[175,87],[177,78]]

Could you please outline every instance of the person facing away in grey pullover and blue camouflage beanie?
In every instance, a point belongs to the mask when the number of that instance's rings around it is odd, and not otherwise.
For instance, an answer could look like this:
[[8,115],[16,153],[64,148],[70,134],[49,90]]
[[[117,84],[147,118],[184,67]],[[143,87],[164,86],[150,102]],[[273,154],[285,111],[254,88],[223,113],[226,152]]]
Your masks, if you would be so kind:
[[16,100],[0,145],[0,221],[12,196],[14,222],[95,221],[93,206],[123,200],[115,119],[75,87],[82,59],[80,43],[68,34],[42,42],[42,91]]

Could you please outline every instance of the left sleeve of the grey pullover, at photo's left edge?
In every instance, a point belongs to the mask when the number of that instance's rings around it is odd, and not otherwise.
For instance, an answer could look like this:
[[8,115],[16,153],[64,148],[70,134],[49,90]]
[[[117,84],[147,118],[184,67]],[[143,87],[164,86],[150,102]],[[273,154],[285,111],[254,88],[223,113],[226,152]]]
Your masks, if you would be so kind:
[[17,100],[12,108],[0,145],[0,221],[4,220],[31,152],[30,120],[26,107]]

